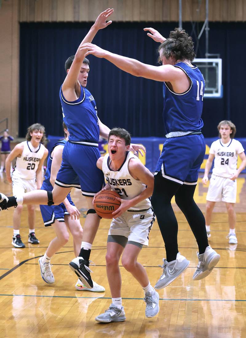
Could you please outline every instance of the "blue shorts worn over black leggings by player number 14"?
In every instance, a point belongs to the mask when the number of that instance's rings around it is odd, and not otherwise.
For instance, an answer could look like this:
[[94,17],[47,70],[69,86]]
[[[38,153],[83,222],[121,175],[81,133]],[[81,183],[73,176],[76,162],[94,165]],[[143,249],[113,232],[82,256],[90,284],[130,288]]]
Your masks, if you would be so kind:
[[185,135],[167,139],[163,144],[155,175],[179,184],[197,184],[198,173],[205,154],[203,135]]

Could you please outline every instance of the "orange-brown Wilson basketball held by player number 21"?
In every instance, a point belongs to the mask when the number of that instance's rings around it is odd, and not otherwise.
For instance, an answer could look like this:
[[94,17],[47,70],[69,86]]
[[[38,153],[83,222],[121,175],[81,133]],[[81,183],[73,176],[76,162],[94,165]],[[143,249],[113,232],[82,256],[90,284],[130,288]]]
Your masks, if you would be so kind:
[[112,212],[120,206],[120,201],[115,197],[120,197],[116,191],[104,190],[98,194],[94,200],[94,208],[98,216],[103,218],[113,218]]

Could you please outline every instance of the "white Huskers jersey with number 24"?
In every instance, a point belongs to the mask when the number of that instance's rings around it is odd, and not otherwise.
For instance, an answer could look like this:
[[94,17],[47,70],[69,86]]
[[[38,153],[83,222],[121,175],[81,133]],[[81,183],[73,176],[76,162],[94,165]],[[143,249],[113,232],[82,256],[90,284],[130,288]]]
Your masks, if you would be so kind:
[[231,177],[237,170],[238,154],[243,151],[242,144],[235,139],[231,139],[226,144],[222,143],[221,139],[213,142],[209,150],[209,154],[215,155],[213,174]]

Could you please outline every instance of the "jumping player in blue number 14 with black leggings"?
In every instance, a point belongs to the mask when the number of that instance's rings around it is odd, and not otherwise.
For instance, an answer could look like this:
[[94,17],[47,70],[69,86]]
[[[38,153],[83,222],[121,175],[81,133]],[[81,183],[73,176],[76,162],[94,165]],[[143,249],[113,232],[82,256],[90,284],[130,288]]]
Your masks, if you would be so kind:
[[205,154],[201,133],[205,82],[199,69],[191,63],[195,57],[192,38],[178,28],[170,32],[169,39],[162,37],[153,28],[144,30],[150,31],[148,36],[161,43],[159,61],[162,66],[146,65],[91,43],[84,44],[82,50],[87,51],[85,56],[93,54],[103,57],[132,75],[164,82],[163,121],[167,140],[156,166],[151,199],[166,249],[163,274],[155,285],[161,289],[175,280],[189,265],[189,261],[178,251],[178,223],[171,206],[173,196],[199,247],[198,265],[193,279],[206,277],[218,263],[220,255],[208,246],[205,219],[193,199]]

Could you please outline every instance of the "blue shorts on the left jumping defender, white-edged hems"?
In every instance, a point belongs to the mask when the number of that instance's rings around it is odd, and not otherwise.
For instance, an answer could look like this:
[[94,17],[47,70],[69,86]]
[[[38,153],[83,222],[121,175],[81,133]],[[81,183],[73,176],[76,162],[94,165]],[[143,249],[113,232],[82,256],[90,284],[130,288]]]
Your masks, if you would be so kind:
[[82,195],[93,197],[104,185],[103,172],[96,166],[99,157],[97,147],[67,142],[55,184],[81,189]]

